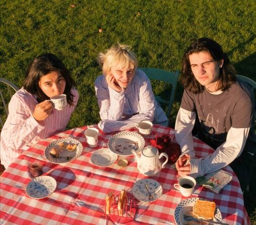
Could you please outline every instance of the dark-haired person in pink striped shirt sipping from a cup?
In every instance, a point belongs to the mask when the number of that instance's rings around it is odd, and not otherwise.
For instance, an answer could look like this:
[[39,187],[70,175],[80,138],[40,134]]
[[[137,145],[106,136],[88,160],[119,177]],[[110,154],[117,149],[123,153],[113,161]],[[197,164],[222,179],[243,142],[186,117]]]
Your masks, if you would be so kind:
[[[56,110],[50,98],[65,94],[67,106]],[[7,167],[30,146],[63,131],[78,101],[68,69],[55,55],[42,54],[29,64],[24,86],[9,103],[1,132],[1,163]]]

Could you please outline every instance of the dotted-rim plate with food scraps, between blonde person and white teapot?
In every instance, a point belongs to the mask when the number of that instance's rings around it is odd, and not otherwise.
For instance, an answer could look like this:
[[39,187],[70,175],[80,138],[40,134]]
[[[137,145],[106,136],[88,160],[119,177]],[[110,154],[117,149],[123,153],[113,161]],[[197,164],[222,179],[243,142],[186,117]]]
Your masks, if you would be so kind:
[[132,150],[140,152],[144,145],[144,138],[131,131],[116,133],[108,140],[108,148],[117,155],[133,155]]

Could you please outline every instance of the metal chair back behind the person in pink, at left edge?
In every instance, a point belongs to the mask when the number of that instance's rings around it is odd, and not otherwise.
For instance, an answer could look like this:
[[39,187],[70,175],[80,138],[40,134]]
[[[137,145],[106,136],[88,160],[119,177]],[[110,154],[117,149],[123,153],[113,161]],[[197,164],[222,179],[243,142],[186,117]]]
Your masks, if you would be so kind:
[[4,85],[0,86],[0,96],[2,105],[0,106],[0,126],[1,128],[4,126],[5,117],[8,116],[8,103],[13,95],[13,90],[15,92],[18,91],[19,87],[17,87],[15,84],[10,82],[9,80],[0,77],[0,83],[4,83]]

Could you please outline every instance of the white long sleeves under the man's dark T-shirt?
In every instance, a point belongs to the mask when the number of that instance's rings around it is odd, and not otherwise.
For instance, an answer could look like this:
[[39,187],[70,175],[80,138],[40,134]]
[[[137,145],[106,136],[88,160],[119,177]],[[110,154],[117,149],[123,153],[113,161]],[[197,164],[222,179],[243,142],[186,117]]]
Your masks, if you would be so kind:
[[229,165],[242,153],[249,133],[249,127],[231,127],[226,142],[214,153],[205,158],[195,159],[192,137],[195,116],[195,112],[180,108],[175,124],[175,138],[181,147],[182,155],[190,155],[190,175],[193,177],[203,176]]

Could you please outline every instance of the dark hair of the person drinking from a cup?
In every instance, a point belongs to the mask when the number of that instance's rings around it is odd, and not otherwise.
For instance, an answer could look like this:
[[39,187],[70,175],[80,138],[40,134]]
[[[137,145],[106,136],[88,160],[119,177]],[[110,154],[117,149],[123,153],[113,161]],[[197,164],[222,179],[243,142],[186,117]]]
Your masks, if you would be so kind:
[[48,100],[49,97],[42,92],[39,87],[39,80],[42,76],[54,71],[60,72],[65,79],[66,86],[64,94],[67,95],[68,104],[72,105],[74,96],[71,94],[71,88],[74,86],[74,80],[63,62],[54,54],[42,54],[32,60],[26,72],[24,89],[27,92],[36,95],[38,102]]

